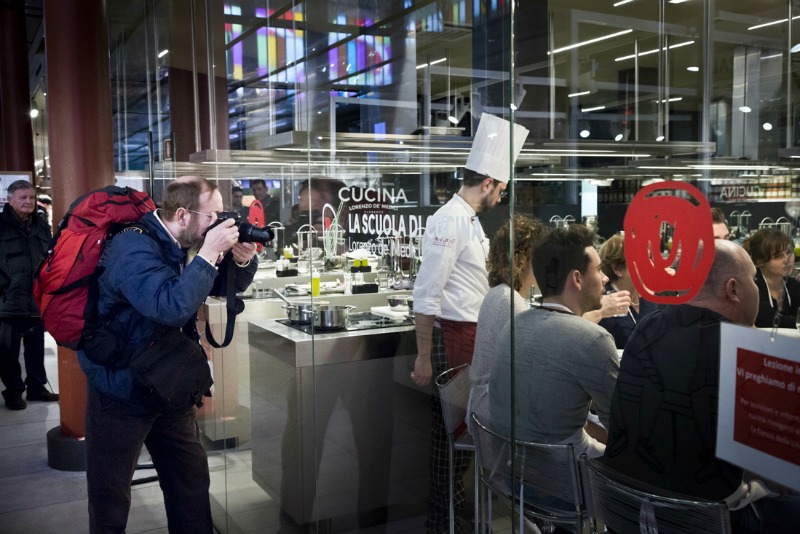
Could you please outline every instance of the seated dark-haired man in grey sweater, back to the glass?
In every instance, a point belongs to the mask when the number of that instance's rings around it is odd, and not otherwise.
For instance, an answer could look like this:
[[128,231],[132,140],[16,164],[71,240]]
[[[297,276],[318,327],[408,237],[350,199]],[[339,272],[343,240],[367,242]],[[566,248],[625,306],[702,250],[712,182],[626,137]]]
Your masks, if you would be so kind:
[[608,423],[619,356],[611,334],[581,317],[600,308],[608,281],[593,242],[592,231],[572,225],[553,230],[534,248],[533,274],[543,304],[515,316],[513,375],[510,322],[498,337],[503,341],[489,378],[487,423],[510,436],[516,409],[516,439],[572,443],[576,455],[597,457],[605,446],[584,425],[592,403]]

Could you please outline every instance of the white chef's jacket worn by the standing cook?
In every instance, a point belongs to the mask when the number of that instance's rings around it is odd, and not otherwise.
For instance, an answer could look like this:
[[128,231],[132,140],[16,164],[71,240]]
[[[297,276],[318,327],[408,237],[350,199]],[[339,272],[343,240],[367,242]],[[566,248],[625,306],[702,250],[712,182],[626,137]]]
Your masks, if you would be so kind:
[[489,291],[488,254],[489,240],[475,210],[453,195],[426,222],[422,264],[414,282],[414,311],[477,322]]

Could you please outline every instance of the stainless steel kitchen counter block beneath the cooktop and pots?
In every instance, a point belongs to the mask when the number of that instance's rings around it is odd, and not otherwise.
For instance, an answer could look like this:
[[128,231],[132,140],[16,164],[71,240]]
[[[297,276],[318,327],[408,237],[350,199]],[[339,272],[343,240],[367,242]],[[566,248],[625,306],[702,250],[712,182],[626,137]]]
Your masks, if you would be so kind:
[[309,335],[248,326],[253,479],[298,524],[424,513],[429,390],[413,326]]

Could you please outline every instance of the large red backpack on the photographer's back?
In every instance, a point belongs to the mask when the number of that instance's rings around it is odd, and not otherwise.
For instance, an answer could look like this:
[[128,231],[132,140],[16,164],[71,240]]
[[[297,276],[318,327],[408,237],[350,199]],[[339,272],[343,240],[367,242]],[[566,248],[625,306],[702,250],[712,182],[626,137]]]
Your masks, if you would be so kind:
[[106,242],[155,209],[147,193],[117,186],[87,193],[69,207],[33,281],[44,328],[59,345],[79,348],[92,311],[87,307],[90,282]]

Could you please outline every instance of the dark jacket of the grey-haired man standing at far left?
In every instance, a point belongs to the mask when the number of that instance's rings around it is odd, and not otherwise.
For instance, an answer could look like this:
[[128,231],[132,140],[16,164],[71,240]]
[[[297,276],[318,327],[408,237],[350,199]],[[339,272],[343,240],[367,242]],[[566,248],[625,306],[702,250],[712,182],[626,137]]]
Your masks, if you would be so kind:
[[11,204],[0,214],[0,317],[38,317],[33,275],[50,245],[50,226],[33,213],[29,224]]

